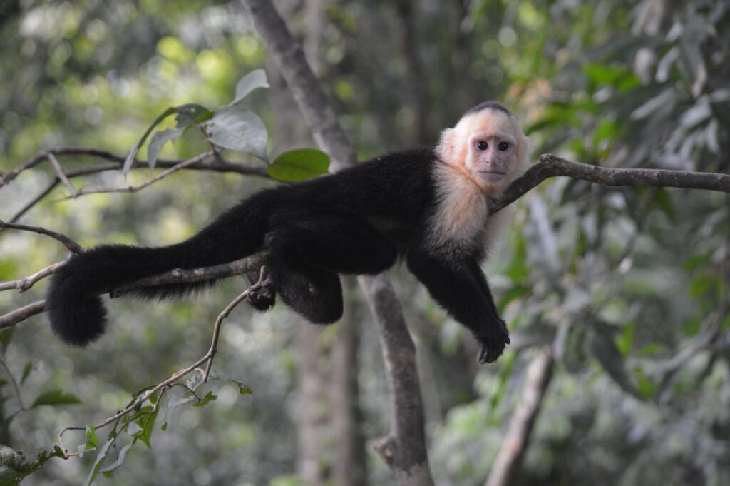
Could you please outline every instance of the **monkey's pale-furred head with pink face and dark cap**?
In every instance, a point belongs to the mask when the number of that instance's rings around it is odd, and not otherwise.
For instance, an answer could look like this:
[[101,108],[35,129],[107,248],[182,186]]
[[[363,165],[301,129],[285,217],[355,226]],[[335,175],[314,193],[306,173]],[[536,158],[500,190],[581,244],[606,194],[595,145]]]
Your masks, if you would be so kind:
[[531,146],[506,107],[485,102],[445,129],[437,153],[469,177],[484,194],[497,195],[527,170]]

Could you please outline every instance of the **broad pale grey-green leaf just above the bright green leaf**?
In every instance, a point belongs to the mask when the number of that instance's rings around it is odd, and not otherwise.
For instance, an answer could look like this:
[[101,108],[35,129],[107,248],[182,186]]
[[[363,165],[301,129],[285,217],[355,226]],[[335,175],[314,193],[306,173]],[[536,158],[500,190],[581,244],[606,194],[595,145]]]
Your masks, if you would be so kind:
[[266,161],[266,126],[258,115],[237,105],[215,110],[206,124],[210,143],[228,150],[250,153]]

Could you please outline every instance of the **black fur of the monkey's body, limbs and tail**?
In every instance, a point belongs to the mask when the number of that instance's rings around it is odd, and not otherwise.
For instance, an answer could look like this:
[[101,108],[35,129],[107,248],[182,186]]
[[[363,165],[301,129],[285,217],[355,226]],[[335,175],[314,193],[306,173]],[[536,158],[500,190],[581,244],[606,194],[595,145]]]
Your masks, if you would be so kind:
[[[376,274],[399,254],[429,292],[496,360],[509,342],[478,266],[482,250],[450,248],[439,257],[426,244],[437,198],[434,164],[426,149],[392,153],[334,175],[258,192],[182,243],[162,248],[99,246],[72,257],[55,273],[46,308],[54,332],[83,346],[104,332],[99,294],[174,268],[231,262],[269,251],[269,295],[274,292],[311,322],[342,315],[338,273]],[[138,289],[140,297],[183,295],[199,284]],[[265,292],[264,292],[265,293]]]

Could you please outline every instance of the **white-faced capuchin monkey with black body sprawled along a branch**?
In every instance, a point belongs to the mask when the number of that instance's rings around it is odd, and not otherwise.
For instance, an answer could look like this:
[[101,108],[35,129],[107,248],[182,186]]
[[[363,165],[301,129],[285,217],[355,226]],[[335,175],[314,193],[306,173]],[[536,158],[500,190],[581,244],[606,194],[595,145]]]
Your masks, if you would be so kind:
[[[342,316],[338,274],[374,275],[401,257],[431,297],[472,332],[479,362],[493,362],[510,338],[479,266],[504,219],[504,211],[488,214],[487,197],[499,196],[526,170],[529,151],[510,110],[482,103],[445,129],[435,148],[389,153],[260,191],[182,243],[104,245],[75,254],[50,282],[51,327],[66,343],[84,346],[106,327],[101,292],[259,251],[269,252],[268,278],[250,303],[266,311],[279,295],[311,322],[328,324]],[[164,298],[205,285],[132,292]]]

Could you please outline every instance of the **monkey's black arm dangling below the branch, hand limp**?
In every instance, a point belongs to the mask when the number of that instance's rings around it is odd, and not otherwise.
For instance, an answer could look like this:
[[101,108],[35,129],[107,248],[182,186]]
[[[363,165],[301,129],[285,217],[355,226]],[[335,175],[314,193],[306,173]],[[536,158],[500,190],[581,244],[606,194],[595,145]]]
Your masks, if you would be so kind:
[[472,331],[481,346],[481,364],[493,362],[502,354],[510,336],[475,259],[455,257],[446,262],[426,249],[414,248],[408,254],[408,268],[434,300]]

